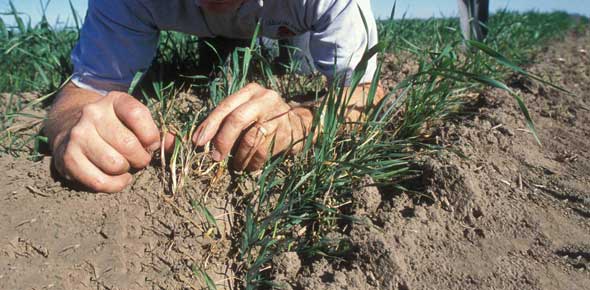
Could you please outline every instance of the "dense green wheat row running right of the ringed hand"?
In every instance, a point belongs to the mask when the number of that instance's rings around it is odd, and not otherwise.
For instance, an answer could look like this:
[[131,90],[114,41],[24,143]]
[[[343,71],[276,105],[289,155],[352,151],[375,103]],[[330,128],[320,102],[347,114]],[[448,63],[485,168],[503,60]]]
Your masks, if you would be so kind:
[[[326,249],[322,237],[338,230],[338,220],[354,220],[340,210],[350,202],[346,193],[363,176],[395,187],[404,176],[414,174],[409,164],[417,157],[411,148],[420,146],[416,141],[425,130],[457,112],[464,101],[463,92],[482,86],[509,91],[535,133],[523,100],[496,78],[510,70],[545,81],[526,73],[485,44],[469,43],[485,54],[464,56],[460,52],[463,41],[457,33],[452,40],[449,35],[453,34],[444,32],[453,30],[444,22],[426,23],[434,31],[436,41],[429,39],[433,45],[421,47],[402,39],[405,50],[415,55],[418,71],[391,90],[399,91],[399,95],[390,93],[378,106],[365,112],[369,122],[360,131],[342,134],[342,105],[346,104],[346,97],[341,87],[331,87],[318,110],[325,115],[317,143],[312,145],[308,138],[304,152],[289,162],[289,167],[284,166],[286,156],[267,164],[259,177],[260,190],[246,209],[240,246],[247,269],[243,276],[247,289],[272,286],[263,270],[282,251],[295,250],[309,256],[339,253],[341,249]],[[382,50],[383,46],[375,49]],[[357,68],[356,77],[361,72],[362,66]],[[379,74],[377,71],[375,80]],[[375,88],[369,91],[367,100],[373,100]],[[316,114],[316,126],[320,118]]]

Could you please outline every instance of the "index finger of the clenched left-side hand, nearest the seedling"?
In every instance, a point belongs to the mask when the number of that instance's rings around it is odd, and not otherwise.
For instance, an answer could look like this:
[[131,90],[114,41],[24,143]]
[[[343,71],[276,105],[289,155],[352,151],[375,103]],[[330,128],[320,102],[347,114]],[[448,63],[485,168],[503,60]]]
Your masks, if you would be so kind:
[[117,118],[137,137],[148,151],[160,148],[160,131],[150,110],[133,96],[118,93],[113,102]]

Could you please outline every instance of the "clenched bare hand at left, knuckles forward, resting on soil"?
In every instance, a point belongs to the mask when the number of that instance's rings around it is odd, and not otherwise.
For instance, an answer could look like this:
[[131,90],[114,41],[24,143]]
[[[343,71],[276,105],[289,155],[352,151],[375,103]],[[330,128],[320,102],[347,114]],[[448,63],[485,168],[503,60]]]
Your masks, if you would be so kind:
[[150,111],[128,94],[111,92],[93,102],[61,106],[70,109],[50,114],[46,124],[53,131],[48,135],[55,167],[66,179],[91,190],[123,190],[132,181],[129,169],[146,167],[151,152],[160,147]]

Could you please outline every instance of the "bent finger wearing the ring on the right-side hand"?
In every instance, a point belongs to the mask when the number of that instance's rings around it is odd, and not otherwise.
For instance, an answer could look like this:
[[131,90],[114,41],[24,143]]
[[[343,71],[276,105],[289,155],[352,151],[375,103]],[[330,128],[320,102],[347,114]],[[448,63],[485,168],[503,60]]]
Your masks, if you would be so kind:
[[236,170],[244,170],[255,155],[266,156],[268,147],[276,131],[276,122],[262,124],[266,133],[257,126],[252,126],[240,138],[238,147],[233,156],[233,167]]

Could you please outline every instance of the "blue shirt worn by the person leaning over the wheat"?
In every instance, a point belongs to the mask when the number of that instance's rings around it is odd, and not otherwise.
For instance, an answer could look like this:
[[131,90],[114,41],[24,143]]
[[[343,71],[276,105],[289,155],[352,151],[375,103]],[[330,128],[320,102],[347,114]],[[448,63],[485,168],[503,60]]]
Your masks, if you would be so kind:
[[[90,0],[72,52],[72,79],[103,94],[126,91],[135,73],[150,66],[160,31],[250,39],[259,20],[261,36],[295,38],[328,80],[342,74],[350,81],[365,49],[377,43],[369,0],[245,0],[222,14],[201,9],[197,0]],[[362,82],[375,69],[373,57]]]

